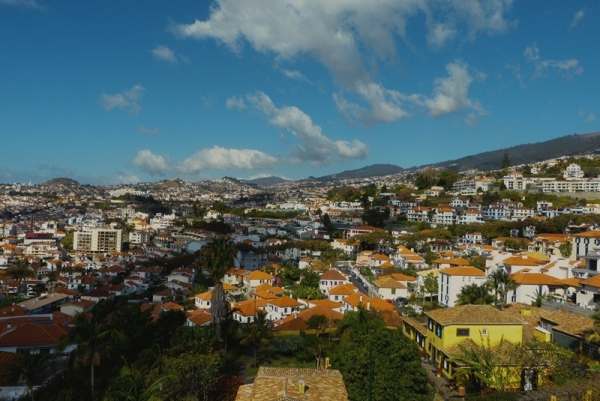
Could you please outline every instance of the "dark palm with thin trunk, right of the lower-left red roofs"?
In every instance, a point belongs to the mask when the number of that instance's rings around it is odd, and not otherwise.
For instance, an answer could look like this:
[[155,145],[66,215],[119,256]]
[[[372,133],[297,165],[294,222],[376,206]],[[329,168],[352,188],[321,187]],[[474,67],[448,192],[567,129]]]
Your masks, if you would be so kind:
[[96,316],[93,314],[88,320],[82,313],[75,315],[74,327],[58,343],[60,350],[66,349],[69,345],[76,345],[70,356],[71,361],[90,366],[91,400],[94,400],[94,368],[100,365],[107,348],[124,341],[120,331],[107,330],[98,322]]

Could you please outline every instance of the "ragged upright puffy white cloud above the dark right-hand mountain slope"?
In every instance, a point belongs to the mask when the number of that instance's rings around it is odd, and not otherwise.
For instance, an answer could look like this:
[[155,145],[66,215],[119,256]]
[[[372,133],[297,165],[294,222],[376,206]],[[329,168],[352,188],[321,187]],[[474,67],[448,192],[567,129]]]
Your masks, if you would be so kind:
[[[425,100],[425,106],[432,117],[442,117],[456,113],[464,108],[472,109],[476,114],[484,110],[479,102],[469,99],[469,86],[473,77],[466,64],[454,62],[446,65],[448,77],[438,78],[434,82],[433,96]],[[467,123],[472,124],[475,115],[468,117]]]

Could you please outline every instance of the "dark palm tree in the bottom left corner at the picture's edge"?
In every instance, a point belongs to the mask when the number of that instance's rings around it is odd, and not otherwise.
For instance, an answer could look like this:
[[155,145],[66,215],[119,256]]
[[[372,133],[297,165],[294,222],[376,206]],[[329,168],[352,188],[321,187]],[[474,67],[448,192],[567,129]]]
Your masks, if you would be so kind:
[[17,384],[20,381],[24,381],[27,385],[31,401],[33,398],[33,386],[35,380],[39,378],[41,373],[44,373],[49,367],[50,355],[48,354],[34,354],[29,349],[24,349],[22,353],[17,356],[6,365],[5,372],[2,378],[7,383]]

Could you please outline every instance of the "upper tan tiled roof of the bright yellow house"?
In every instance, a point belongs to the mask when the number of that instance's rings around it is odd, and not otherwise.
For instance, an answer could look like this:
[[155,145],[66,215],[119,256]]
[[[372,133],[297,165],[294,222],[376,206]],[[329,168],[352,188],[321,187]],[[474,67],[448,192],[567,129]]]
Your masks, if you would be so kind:
[[425,312],[425,314],[443,326],[453,324],[523,324],[519,319],[502,313],[490,305],[462,305],[436,309]]

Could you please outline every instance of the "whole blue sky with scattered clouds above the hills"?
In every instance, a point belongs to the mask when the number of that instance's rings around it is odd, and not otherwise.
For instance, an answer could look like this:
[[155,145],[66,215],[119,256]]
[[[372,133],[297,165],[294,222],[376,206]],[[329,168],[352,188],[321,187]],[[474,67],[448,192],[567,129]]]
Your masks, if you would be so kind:
[[0,0],[0,182],[298,179],[596,132],[599,8]]

